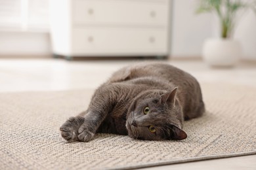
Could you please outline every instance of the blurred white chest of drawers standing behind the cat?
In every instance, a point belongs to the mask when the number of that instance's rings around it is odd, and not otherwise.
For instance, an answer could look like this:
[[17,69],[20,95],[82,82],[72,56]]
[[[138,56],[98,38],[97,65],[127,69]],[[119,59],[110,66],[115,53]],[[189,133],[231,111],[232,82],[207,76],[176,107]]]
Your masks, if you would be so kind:
[[168,56],[171,0],[51,0],[53,53]]

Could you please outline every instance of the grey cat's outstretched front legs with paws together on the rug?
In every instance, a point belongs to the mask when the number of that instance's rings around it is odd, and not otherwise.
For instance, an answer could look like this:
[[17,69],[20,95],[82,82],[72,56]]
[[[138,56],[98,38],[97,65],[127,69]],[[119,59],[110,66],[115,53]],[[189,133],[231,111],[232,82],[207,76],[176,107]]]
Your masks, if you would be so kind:
[[[75,117],[74,122],[67,120],[62,125],[62,137],[67,141],[91,141],[100,124],[105,120],[106,116],[116,103],[116,93],[113,92],[113,86],[103,86],[96,90],[91,99],[89,108],[83,114]],[[83,120],[83,121],[81,121]],[[72,129],[68,133],[64,130]],[[65,137],[67,136],[67,137]],[[70,139],[71,137],[71,139]]]

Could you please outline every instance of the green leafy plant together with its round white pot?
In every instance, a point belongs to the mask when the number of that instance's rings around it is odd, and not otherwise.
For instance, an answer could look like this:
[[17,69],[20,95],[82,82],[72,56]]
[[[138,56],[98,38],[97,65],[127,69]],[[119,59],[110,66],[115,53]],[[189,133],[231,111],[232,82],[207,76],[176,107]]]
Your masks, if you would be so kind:
[[239,41],[232,39],[238,12],[255,10],[256,1],[201,0],[197,13],[213,12],[219,18],[221,34],[219,39],[207,39],[203,44],[203,59],[211,66],[234,66],[242,55]]

